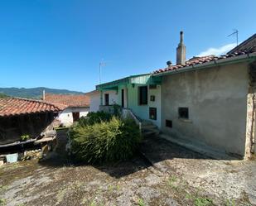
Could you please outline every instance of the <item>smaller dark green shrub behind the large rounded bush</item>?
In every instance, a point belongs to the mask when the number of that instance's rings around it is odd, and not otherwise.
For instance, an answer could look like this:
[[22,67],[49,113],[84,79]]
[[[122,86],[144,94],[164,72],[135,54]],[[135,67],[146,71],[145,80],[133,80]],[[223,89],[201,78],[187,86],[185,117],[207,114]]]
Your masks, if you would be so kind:
[[94,123],[99,123],[99,122],[109,122],[111,119],[112,115],[110,113],[104,113],[104,112],[91,112],[88,113],[86,117],[81,117],[78,125],[80,126],[86,126],[86,125],[94,125]]

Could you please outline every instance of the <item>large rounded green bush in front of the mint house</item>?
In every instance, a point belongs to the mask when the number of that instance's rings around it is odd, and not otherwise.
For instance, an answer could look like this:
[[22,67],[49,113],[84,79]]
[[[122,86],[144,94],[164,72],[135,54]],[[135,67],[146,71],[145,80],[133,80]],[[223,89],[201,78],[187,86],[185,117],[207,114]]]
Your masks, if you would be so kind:
[[90,163],[127,160],[141,141],[136,123],[118,117],[112,117],[109,122],[78,124],[69,134],[72,153]]

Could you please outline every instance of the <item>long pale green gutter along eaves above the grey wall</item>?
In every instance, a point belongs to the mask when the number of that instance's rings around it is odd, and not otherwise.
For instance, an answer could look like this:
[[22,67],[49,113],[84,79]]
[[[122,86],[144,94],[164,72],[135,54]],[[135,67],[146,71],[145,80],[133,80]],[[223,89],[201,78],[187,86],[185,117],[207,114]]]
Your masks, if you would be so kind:
[[187,66],[187,67],[184,67],[181,69],[173,69],[170,71],[160,72],[157,74],[152,74],[152,76],[166,76],[166,75],[171,75],[171,74],[179,74],[179,73],[186,72],[186,71],[196,71],[199,69],[207,69],[207,68],[214,67],[217,65],[230,65],[230,64],[236,64],[236,63],[244,62],[244,61],[252,62],[254,60],[256,60],[255,52],[246,54],[246,55],[229,57],[226,59],[212,60],[210,62],[206,62],[203,64],[197,64],[197,65],[191,65],[191,66]]

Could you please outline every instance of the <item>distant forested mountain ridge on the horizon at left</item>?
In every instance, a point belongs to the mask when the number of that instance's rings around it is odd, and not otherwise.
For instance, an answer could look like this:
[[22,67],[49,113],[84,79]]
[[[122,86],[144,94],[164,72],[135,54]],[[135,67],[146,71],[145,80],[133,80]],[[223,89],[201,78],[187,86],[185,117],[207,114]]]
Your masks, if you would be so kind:
[[0,88],[0,96],[5,94],[11,97],[18,98],[36,98],[39,99],[42,97],[43,90],[46,90],[46,93],[59,93],[59,94],[83,94],[82,92],[70,91],[67,89],[50,89],[45,87],[37,87],[37,88]]

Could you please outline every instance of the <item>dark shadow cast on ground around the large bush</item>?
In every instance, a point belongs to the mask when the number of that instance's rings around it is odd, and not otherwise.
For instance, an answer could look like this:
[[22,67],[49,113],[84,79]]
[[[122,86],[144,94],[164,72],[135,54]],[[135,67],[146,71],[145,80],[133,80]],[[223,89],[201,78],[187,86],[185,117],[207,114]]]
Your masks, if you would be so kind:
[[[81,166],[88,165],[83,162],[75,161],[75,158],[66,156],[65,144],[67,136],[65,131],[58,132],[58,146],[56,152],[51,153],[46,159],[39,163],[47,167],[62,166]],[[133,174],[139,170],[147,169],[163,160],[172,160],[174,158],[185,159],[209,159],[194,151],[189,151],[184,147],[178,146],[160,137],[147,137],[142,142],[138,154],[131,160],[120,161],[118,163],[109,163],[104,165],[92,165],[112,177],[121,178]]]

